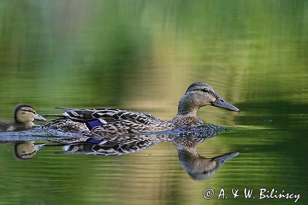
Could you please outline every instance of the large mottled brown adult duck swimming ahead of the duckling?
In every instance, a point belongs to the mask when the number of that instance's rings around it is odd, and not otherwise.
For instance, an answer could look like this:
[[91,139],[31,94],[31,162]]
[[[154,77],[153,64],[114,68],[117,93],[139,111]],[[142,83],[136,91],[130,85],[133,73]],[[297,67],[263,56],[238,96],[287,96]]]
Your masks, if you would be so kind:
[[168,131],[183,125],[204,124],[201,119],[197,118],[197,111],[206,105],[239,112],[238,108],[227,103],[209,85],[193,83],[180,99],[178,113],[171,120],[162,120],[147,113],[113,108],[61,108],[66,111],[63,115],[45,116],[61,116],[62,118],[52,120],[44,127],[80,134],[87,133],[92,137]]

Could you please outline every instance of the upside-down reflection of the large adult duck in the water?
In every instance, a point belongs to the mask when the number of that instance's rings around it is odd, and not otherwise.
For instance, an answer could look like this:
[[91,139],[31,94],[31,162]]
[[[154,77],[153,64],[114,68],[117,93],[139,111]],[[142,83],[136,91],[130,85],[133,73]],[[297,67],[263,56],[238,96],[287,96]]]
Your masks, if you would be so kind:
[[[83,138],[79,141],[64,145],[65,154],[93,154],[93,155],[123,155],[139,152],[158,142],[172,142],[176,147],[183,169],[194,179],[203,180],[214,175],[227,160],[239,155],[239,152],[228,153],[214,158],[205,158],[198,154],[197,145],[206,137],[180,137],[167,134],[142,134],[117,136],[110,139]],[[82,140],[82,141],[81,141]],[[56,140],[60,142],[59,140]],[[65,144],[65,139],[61,139]]]

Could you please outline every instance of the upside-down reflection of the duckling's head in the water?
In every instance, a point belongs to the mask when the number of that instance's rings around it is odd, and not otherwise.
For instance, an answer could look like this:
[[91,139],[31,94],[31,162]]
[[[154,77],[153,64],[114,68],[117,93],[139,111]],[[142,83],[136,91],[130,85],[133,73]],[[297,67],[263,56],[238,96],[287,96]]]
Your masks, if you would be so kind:
[[34,141],[18,142],[14,145],[14,154],[17,159],[32,159],[36,152],[45,144],[34,144]]

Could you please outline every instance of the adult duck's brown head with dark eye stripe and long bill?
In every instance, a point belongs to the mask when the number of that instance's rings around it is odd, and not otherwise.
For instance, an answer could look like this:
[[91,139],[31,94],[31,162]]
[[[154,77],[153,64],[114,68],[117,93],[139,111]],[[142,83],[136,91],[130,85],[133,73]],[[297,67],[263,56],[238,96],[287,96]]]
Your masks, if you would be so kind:
[[187,88],[186,93],[180,99],[178,112],[187,114],[207,105],[240,112],[238,108],[227,103],[211,86],[205,83],[193,83]]

